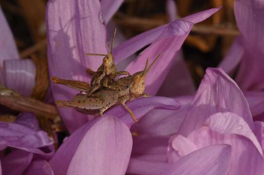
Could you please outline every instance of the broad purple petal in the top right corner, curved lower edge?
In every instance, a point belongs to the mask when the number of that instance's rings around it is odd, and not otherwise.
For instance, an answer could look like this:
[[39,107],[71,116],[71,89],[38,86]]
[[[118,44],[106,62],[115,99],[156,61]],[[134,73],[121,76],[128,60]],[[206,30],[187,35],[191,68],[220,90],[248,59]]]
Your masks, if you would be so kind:
[[262,0],[235,0],[234,14],[237,26],[252,48],[264,53],[264,5]]

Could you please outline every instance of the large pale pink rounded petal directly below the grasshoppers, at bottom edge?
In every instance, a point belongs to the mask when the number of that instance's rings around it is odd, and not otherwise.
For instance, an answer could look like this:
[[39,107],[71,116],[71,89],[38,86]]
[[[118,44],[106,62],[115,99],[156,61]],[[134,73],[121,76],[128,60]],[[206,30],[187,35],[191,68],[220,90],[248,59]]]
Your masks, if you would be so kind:
[[124,175],[132,150],[132,136],[121,121],[106,117],[80,142],[67,175]]

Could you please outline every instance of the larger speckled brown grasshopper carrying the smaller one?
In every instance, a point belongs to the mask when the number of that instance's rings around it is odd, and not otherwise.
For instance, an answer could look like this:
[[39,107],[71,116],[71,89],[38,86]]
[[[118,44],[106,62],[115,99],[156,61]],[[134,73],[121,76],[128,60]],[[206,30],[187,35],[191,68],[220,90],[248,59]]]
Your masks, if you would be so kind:
[[[160,55],[160,54],[159,54]],[[91,95],[78,94],[72,101],[56,101],[56,105],[60,107],[78,107],[82,109],[99,109],[100,115],[106,111],[109,107],[120,103],[130,113],[132,119],[138,122],[131,109],[125,104],[126,101],[138,98],[149,97],[149,95],[143,93],[145,89],[145,76],[149,70],[153,67],[154,63],[158,60],[159,55],[148,66],[148,60],[143,71],[134,73],[127,77],[120,78],[116,82],[110,83],[107,88],[102,88]]]

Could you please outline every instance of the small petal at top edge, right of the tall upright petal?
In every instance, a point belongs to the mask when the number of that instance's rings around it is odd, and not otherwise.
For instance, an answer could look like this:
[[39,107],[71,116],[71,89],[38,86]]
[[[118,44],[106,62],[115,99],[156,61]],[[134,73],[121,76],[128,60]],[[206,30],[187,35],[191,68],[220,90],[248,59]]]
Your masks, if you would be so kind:
[[103,16],[106,23],[114,16],[124,0],[101,0]]

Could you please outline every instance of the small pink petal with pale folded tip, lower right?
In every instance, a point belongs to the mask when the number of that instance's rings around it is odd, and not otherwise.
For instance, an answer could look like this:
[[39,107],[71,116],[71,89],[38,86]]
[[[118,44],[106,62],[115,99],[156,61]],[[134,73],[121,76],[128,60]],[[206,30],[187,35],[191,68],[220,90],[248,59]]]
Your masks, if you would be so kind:
[[168,162],[176,162],[179,158],[197,150],[197,146],[186,137],[175,134],[171,136],[168,146]]

